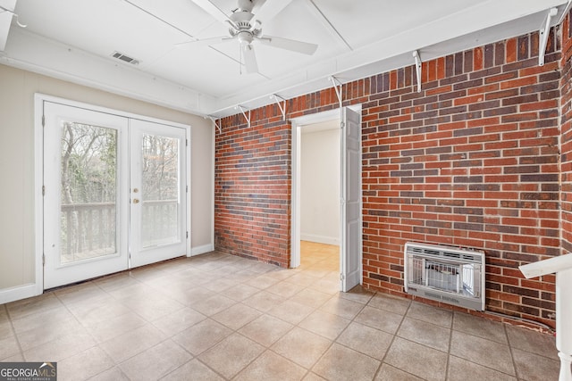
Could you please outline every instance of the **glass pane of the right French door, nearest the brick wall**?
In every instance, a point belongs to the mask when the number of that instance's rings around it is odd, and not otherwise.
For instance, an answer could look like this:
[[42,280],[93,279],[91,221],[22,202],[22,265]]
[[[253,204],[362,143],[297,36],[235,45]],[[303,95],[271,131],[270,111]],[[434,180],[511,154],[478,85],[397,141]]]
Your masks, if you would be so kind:
[[143,134],[142,152],[142,247],[178,243],[179,139]]

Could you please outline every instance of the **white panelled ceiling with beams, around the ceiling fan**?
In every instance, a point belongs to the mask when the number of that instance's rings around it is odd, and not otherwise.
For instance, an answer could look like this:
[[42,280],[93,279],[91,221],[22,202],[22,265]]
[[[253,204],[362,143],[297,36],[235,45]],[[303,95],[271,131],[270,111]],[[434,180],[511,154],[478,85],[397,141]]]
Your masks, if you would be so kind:
[[[258,0],[253,13],[265,1]],[[231,13],[237,0],[211,0]],[[3,33],[0,63],[129,95],[174,109],[214,115],[237,113],[282,98],[412,65],[473,46],[539,30],[552,7],[557,24],[568,0],[291,0],[267,35],[318,45],[313,55],[256,45],[259,73],[246,74],[236,40],[213,46],[195,39],[228,35],[192,0],[0,0],[18,14]],[[14,7],[15,4],[15,7]],[[262,4],[262,5],[261,5]],[[8,20],[9,22],[10,20]],[[7,35],[6,35],[7,33]],[[0,50],[3,50],[0,44]],[[138,65],[111,57],[127,54]]]

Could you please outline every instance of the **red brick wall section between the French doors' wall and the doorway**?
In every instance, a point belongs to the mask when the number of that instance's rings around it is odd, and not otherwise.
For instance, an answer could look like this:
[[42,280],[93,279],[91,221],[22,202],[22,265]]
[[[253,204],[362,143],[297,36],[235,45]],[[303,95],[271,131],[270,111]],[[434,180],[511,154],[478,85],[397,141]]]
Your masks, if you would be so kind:
[[252,113],[223,120],[215,145],[214,227],[218,250],[288,267],[290,126]]

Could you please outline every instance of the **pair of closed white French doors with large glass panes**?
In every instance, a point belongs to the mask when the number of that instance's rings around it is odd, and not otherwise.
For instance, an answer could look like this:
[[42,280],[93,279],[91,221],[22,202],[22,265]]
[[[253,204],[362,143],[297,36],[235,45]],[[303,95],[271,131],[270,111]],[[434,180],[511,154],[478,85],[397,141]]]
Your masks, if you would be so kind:
[[187,130],[44,103],[44,288],[187,253]]

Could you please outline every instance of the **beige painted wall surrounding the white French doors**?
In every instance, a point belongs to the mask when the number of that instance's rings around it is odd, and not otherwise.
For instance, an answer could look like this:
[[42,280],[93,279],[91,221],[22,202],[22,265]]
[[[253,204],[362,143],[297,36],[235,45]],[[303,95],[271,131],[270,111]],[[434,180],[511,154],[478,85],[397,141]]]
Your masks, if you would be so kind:
[[[35,282],[34,94],[191,126],[191,249],[213,250],[214,135],[210,120],[0,64],[0,303]],[[14,293],[14,290],[15,293]],[[21,293],[20,293],[21,294]],[[7,296],[6,296],[7,295]]]

